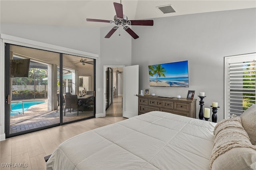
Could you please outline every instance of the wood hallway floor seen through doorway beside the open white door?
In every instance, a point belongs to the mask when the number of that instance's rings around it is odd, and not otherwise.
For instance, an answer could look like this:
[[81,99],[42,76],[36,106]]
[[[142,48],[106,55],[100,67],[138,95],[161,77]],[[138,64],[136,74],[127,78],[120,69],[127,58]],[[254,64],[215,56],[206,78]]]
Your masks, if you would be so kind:
[[122,96],[113,97],[113,103],[106,110],[106,116],[122,117]]

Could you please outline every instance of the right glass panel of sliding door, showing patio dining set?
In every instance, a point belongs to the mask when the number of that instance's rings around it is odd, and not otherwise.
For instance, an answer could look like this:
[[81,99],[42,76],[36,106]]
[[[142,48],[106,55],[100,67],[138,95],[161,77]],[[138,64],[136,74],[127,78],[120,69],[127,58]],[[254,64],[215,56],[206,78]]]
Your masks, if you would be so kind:
[[63,123],[94,117],[94,60],[63,54]]

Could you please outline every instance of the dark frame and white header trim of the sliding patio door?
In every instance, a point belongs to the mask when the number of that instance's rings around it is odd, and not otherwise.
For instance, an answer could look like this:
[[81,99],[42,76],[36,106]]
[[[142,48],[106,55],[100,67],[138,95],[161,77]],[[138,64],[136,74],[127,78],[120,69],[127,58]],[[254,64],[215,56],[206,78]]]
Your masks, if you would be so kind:
[[[62,65],[62,54],[76,55],[76,56],[80,56],[80,57],[86,57],[86,58],[94,59],[94,117],[95,117],[95,113],[96,113],[96,107],[95,107],[96,106],[96,102],[95,102],[96,101],[95,100],[95,96],[96,96],[95,95],[95,87],[96,87],[96,78],[95,78],[96,74],[95,73],[96,73],[96,71],[95,70],[96,70],[96,59],[98,58],[97,54],[88,53],[88,52],[85,52],[85,51],[79,51],[79,50],[75,50],[75,49],[69,49],[69,48],[66,48],[66,47],[60,47],[60,46],[57,46],[57,45],[51,45],[51,44],[42,43],[42,42],[36,42],[36,41],[33,41],[33,40],[27,40],[27,39],[24,39],[24,38],[9,36],[9,35],[6,35],[6,34],[1,34],[1,49],[2,49],[1,58],[4,59],[4,64],[5,64],[4,71],[5,71],[5,76],[6,77],[7,76],[10,77],[10,62],[8,62],[8,61],[10,61],[10,54],[6,54],[5,51],[6,50],[10,51],[10,44],[59,53],[60,54],[60,68],[61,68],[60,70],[61,70],[61,72],[62,72],[62,66],[63,66]],[[6,45],[7,45],[7,47],[9,47],[9,50],[6,49]],[[61,82],[60,83],[62,84],[62,81],[63,81],[62,80],[62,74],[60,74],[60,75],[61,75],[61,77],[60,77]],[[1,85],[1,91],[4,92],[2,94],[4,94],[5,104],[4,104],[4,107],[0,108],[0,126],[1,126],[1,128],[0,128],[0,140],[4,140],[5,138],[22,134],[22,133],[19,133],[19,132],[15,133],[15,134],[10,134],[10,116],[9,117],[5,116],[6,115],[5,114],[6,102],[8,102],[8,100],[6,100],[6,96],[10,95],[9,94],[10,93],[10,81],[6,82],[5,80]],[[2,87],[4,87],[4,89]],[[7,89],[6,88],[9,89],[8,94],[7,94]],[[62,94],[63,93],[62,88],[60,88],[60,89],[61,89],[60,93]],[[62,95],[60,95],[60,96],[62,97]],[[3,100],[3,98],[0,99],[1,103],[3,103],[2,100]],[[3,104],[1,104],[1,106],[2,105]],[[60,111],[63,111],[62,110],[62,103],[60,103]],[[9,113],[10,113],[10,109],[9,109]],[[3,117],[5,117],[4,120],[2,119]],[[9,119],[9,121],[7,121],[6,119]],[[86,118],[84,118],[84,119],[86,119]],[[83,120],[83,119],[78,119],[77,121],[81,121],[81,120]],[[70,122],[63,123],[63,117],[60,116],[60,123],[55,124],[55,125],[49,125],[49,126],[42,127],[42,128],[27,130],[26,133],[34,132],[34,131],[38,131],[38,130],[42,130],[42,129],[45,129],[45,128],[50,128],[50,127],[54,127],[54,126],[58,126],[58,125],[63,125],[63,124],[67,124],[67,123],[72,123],[72,122],[75,122],[75,121],[70,121]],[[9,128],[6,128],[7,124],[9,124],[9,126],[8,126]],[[4,128],[4,130],[3,130],[3,128]]]

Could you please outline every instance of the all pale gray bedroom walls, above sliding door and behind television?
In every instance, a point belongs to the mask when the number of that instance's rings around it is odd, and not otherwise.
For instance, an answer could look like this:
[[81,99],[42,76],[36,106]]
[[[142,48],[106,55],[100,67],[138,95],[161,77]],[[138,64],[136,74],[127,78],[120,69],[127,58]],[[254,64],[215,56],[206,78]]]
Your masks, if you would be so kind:
[[[200,91],[205,92],[205,107],[210,107],[213,101],[219,103],[220,121],[224,118],[224,56],[256,52],[255,8],[155,18],[152,27],[132,27],[140,36],[136,40],[122,29],[121,36],[118,36],[117,30],[111,38],[105,39],[111,28],[1,23],[0,31],[2,34],[99,54],[96,60],[96,113],[99,114],[103,113],[103,65],[138,64],[139,89],[150,88],[150,93],[156,95],[182,97],[186,97],[188,90],[195,90],[197,99]],[[188,60],[189,64],[189,88],[149,87],[148,65],[184,60]],[[1,64],[3,67],[4,63]],[[4,100],[3,97],[1,99]]]

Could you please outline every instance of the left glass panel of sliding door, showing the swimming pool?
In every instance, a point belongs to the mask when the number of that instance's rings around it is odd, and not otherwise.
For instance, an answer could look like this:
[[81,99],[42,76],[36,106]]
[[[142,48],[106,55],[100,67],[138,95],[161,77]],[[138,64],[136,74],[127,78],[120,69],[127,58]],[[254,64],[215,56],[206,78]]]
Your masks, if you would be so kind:
[[57,77],[59,54],[8,45],[6,60],[10,67],[6,69],[10,70],[10,75],[6,75],[6,81],[10,82],[10,105],[6,105],[6,137],[58,125],[59,118],[48,115],[57,107],[52,102],[52,96],[56,94],[52,78]]

